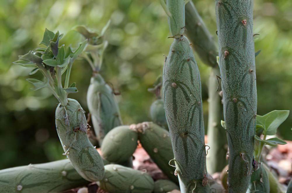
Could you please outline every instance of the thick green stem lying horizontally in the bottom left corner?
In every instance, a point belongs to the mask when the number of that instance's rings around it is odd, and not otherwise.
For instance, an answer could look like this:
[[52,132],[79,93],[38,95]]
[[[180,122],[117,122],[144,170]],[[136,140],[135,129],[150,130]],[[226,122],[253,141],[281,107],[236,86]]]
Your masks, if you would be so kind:
[[0,192],[61,192],[88,183],[69,159],[0,170]]

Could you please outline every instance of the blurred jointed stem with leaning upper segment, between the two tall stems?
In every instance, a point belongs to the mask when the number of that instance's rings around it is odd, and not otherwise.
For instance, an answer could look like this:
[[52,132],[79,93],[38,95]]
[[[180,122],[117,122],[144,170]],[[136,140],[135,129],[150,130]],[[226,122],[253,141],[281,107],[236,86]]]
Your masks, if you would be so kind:
[[204,21],[199,15],[192,1],[185,5],[185,34],[190,39],[194,51],[197,52],[201,60],[211,66],[208,82],[208,150],[207,170],[213,174],[220,172],[226,166],[227,138],[225,130],[220,126],[223,119],[223,107],[218,89],[216,76],[220,76],[220,71],[216,57],[218,49]]

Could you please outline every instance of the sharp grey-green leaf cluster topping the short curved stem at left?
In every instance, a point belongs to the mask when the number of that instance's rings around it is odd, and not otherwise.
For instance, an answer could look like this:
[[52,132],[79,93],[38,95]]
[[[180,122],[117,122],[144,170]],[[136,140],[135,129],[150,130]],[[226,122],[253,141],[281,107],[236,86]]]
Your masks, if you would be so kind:
[[[48,87],[62,105],[67,104],[67,95],[78,92],[76,84],[68,86],[69,75],[73,62],[79,57],[87,46],[87,40],[80,42],[77,49],[71,45],[59,45],[63,34],[45,30],[43,40],[36,49],[25,55],[19,56],[13,62],[24,67],[33,67],[30,75],[41,71],[44,80],[28,78],[27,81],[34,85],[34,90]],[[66,72],[65,86],[62,86],[62,75]]]

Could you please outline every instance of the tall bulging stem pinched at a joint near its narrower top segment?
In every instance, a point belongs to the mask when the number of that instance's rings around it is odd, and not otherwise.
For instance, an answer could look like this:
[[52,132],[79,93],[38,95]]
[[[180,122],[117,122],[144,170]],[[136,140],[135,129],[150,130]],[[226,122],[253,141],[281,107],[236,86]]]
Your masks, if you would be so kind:
[[164,108],[181,192],[209,192],[201,81],[189,40],[183,35],[185,1],[161,1],[173,43],[163,69]]

